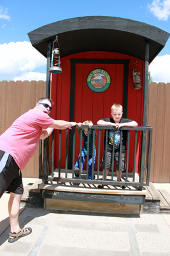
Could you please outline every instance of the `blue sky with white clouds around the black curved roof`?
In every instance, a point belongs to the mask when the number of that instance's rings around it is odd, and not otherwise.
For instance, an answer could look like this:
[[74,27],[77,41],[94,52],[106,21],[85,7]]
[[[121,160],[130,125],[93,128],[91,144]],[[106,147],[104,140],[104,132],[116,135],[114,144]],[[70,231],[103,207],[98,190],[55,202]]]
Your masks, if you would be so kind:
[[[58,20],[81,16],[138,20],[170,33],[170,0],[1,0],[0,81],[46,78],[46,59],[27,33]],[[170,38],[150,64],[153,81],[170,83]]]

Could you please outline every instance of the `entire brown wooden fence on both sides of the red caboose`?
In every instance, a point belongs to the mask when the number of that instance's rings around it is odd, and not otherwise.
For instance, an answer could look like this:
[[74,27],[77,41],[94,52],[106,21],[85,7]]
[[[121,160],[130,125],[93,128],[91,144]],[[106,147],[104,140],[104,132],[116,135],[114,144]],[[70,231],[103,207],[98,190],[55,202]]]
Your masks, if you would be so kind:
[[[44,81],[0,82],[0,134],[26,111],[34,108],[36,100],[45,97]],[[147,124],[153,127],[151,182],[170,182],[170,83],[150,83],[148,86]],[[23,177],[36,178],[38,150],[23,170]]]

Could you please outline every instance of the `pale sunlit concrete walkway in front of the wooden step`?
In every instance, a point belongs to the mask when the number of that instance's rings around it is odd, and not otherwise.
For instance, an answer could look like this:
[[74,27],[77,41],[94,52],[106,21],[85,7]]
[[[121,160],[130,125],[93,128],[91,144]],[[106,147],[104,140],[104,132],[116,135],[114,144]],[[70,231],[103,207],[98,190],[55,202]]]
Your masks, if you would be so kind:
[[[7,208],[8,196],[0,199],[1,210]],[[10,227],[6,224],[0,236],[1,256],[170,255],[170,214],[114,216],[39,208],[21,211],[20,225],[32,227],[32,234],[8,243]],[[0,221],[1,230],[2,223],[9,221],[8,214]]]

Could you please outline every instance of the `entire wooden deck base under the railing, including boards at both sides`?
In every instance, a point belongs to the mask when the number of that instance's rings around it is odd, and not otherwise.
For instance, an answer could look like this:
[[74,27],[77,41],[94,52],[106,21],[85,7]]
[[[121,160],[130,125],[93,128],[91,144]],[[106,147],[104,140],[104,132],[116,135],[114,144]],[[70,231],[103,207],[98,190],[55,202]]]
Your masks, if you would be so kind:
[[22,202],[31,206],[61,211],[87,211],[115,214],[170,213],[170,195],[165,189],[155,189],[152,182],[142,191],[138,188],[73,184],[50,180],[44,184],[37,180],[28,184]]

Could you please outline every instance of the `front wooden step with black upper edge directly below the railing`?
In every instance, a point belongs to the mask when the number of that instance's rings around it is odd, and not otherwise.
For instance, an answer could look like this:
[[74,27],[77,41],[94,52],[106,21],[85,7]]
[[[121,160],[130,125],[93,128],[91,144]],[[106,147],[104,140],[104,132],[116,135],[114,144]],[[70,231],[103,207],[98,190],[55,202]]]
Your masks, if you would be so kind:
[[73,184],[52,182],[39,184],[43,191],[45,209],[64,211],[103,212],[115,214],[139,214],[145,202],[146,189],[122,189],[96,184]]

